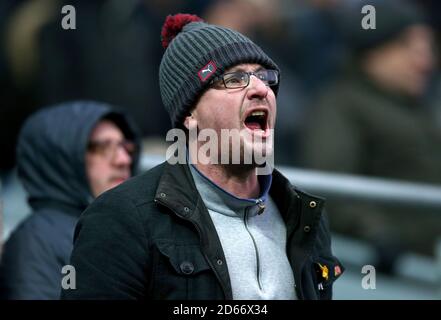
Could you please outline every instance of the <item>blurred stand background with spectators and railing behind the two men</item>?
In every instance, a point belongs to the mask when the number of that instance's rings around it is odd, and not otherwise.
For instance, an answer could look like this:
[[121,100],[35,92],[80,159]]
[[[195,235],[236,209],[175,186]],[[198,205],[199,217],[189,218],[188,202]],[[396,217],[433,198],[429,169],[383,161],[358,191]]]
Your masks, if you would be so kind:
[[[375,29],[362,27],[366,4]],[[64,5],[76,9],[75,30],[61,27]],[[178,12],[244,33],[279,65],[275,163],[327,198],[347,267],[335,298],[440,299],[435,0],[1,0],[0,239],[29,212],[15,147],[40,108],[77,99],[120,106],[143,134],[143,169],[165,157],[160,31]],[[362,286],[364,265],[375,267],[375,289]]]

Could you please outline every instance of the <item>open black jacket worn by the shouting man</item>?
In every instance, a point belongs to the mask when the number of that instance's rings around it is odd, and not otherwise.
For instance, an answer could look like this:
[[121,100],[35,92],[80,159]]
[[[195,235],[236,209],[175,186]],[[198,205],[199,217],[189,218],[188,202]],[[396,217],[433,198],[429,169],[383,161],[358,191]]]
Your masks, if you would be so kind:
[[[343,267],[331,253],[323,200],[277,171],[270,195],[287,225],[298,297],[331,298]],[[64,299],[232,299],[220,240],[187,165],[163,163],[104,193],[74,238],[76,290],[63,290]]]

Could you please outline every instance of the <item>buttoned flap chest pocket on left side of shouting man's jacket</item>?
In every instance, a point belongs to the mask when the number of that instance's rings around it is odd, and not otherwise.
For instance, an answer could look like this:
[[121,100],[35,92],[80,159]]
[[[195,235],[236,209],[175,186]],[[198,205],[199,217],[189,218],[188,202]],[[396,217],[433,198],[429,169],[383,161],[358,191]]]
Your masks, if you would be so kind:
[[156,243],[154,295],[159,299],[216,299],[216,277],[199,245]]

